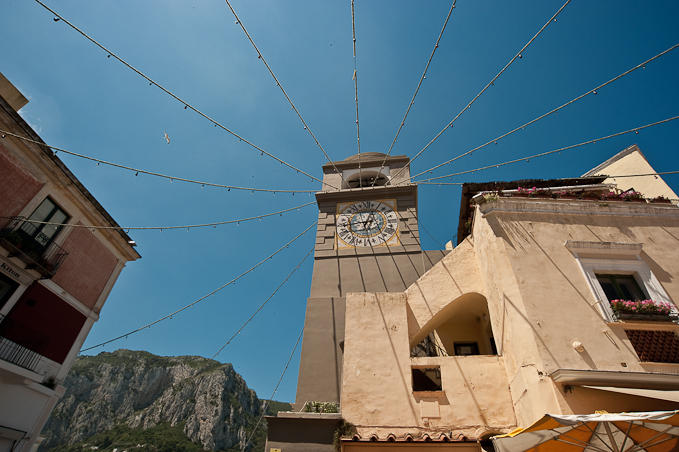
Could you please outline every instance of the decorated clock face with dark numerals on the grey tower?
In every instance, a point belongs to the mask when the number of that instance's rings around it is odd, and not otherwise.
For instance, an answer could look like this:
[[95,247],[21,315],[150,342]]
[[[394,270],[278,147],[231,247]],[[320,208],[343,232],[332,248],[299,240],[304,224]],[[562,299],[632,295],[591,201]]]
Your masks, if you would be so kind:
[[394,200],[361,201],[338,205],[338,248],[397,244],[398,215],[389,205]]

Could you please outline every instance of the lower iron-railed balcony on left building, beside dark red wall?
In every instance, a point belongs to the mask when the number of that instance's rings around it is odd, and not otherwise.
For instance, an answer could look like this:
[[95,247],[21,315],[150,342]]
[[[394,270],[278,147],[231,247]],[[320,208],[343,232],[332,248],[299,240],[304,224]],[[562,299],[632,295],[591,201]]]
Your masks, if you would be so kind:
[[50,340],[0,314],[0,359],[35,372]]

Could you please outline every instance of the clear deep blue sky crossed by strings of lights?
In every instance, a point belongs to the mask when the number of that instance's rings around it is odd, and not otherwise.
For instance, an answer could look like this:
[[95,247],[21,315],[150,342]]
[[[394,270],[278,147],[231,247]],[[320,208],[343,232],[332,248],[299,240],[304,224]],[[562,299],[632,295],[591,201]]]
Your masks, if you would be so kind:
[[[565,1],[565,0],[564,0]],[[224,1],[46,0],[58,14],[220,124],[321,177],[323,153],[290,108]],[[231,5],[333,160],[357,153],[351,3]],[[562,1],[459,1],[392,153],[414,156],[509,62]],[[355,2],[362,152],[386,152],[431,55],[450,1]],[[679,43],[679,4],[572,1],[475,103],[413,162],[426,171],[556,108]],[[149,86],[39,3],[0,6],[0,71],[30,100],[22,116],[52,146],[171,176],[272,190],[317,190]],[[679,49],[524,130],[428,176],[577,144],[679,115]],[[164,134],[170,136],[168,145]],[[561,154],[446,182],[579,176],[637,143],[657,171],[679,170],[679,120]],[[310,201],[170,182],[59,153],[123,227],[228,221]],[[422,176],[424,177],[424,176]],[[665,180],[679,190],[679,176]],[[440,249],[457,227],[460,189],[422,185],[419,214]],[[227,283],[316,220],[313,206],[240,225],[131,231],[128,264],[86,347],[150,323]],[[313,231],[313,229],[312,229]],[[171,320],[100,350],[210,357],[313,247],[314,234]],[[304,322],[307,258],[217,359],[269,397]],[[299,349],[276,395],[294,400]]]

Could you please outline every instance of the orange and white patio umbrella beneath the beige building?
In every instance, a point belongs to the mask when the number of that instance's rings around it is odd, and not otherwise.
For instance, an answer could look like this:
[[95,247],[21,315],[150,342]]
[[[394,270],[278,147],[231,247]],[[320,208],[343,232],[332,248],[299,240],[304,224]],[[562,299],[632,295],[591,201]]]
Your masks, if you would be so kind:
[[679,411],[560,416],[493,438],[499,452],[679,451]]

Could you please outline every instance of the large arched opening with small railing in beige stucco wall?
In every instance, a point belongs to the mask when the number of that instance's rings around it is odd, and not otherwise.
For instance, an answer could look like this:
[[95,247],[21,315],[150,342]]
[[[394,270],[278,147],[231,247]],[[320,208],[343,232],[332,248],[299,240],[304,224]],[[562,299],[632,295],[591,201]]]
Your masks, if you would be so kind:
[[488,302],[476,293],[453,300],[413,339],[412,357],[497,355]]

